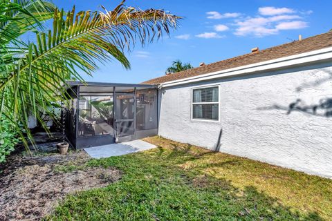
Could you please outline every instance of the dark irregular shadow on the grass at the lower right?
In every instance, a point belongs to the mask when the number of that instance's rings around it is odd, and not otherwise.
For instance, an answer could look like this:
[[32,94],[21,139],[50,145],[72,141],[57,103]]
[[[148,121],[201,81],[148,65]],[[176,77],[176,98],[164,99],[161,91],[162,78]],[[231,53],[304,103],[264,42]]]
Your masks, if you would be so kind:
[[218,195],[216,201],[223,199],[230,202],[232,217],[241,220],[323,220],[317,212],[301,214],[291,207],[282,205],[277,198],[257,190],[255,186],[246,186],[243,191],[235,188],[225,179],[210,175],[201,175],[192,180],[197,189]]

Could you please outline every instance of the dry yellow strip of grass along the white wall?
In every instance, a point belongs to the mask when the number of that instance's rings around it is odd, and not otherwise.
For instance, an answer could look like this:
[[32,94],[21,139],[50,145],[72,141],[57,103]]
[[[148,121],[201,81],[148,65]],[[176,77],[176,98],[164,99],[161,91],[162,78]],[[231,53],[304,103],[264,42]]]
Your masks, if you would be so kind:
[[[228,180],[242,190],[254,186],[261,193],[277,198],[291,211],[315,211],[326,220],[332,217],[332,180],[162,137],[149,137],[145,141],[172,149],[174,153],[182,151],[192,155],[191,160],[178,164],[184,170],[196,170],[219,180]],[[197,185],[207,185],[202,178],[197,178],[196,182],[199,182]]]

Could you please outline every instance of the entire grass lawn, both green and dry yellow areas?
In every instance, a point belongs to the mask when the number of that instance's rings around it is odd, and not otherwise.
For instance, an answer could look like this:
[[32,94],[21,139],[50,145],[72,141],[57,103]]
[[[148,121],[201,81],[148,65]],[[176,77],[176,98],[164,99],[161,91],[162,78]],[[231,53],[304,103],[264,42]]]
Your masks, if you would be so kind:
[[[122,179],[69,195],[46,220],[329,220],[332,180],[161,137],[158,148],[90,160]],[[70,171],[72,171],[71,169]]]

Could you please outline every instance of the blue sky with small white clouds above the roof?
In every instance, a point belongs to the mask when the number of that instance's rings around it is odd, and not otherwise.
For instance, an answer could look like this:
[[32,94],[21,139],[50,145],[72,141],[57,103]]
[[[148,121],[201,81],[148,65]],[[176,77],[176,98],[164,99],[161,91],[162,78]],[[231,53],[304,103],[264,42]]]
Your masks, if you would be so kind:
[[[69,10],[111,10],[120,0],[54,0]],[[217,0],[128,0],[127,6],[142,9],[163,8],[185,17],[171,37],[127,54],[131,70],[118,61],[100,64],[86,81],[139,83],[165,75],[172,61],[181,59],[193,66],[210,64],[250,52],[251,48],[269,48],[327,32],[332,28],[332,1],[217,1]]]

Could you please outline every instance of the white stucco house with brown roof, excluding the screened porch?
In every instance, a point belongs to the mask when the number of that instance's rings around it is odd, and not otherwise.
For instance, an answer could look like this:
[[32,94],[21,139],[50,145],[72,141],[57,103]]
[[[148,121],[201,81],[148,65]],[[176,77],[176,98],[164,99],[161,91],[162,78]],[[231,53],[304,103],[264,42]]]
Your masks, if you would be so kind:
[[158,135],[332,177],[332,32],[150,79]]

